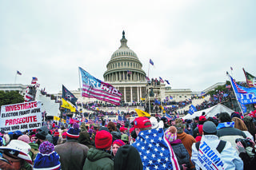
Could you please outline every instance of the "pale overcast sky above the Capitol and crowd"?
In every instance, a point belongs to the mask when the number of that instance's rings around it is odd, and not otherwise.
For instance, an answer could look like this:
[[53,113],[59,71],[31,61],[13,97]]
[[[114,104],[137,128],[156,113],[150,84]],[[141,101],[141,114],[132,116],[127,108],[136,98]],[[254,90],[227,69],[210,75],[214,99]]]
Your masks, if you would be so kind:
[[0,84],[58,93],[79,87],[78,66],[104,81],[110,57],[127,45],[150,77],[173,89],[202,91],[225,82],[226,71],[256,76],[256,1],[0,0]]

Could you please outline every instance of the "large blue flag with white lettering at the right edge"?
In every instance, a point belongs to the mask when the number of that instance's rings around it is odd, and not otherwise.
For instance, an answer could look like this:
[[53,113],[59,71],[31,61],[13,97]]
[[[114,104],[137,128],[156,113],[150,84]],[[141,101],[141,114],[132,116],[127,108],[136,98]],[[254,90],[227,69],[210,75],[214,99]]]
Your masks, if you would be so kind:
[[234,93],[236,94],[238,101],[242,105],[256,103],[256,88],[242,87],[241,85],[238,85],[231,76],[230,76],[230,81],[231,81],[231,85],[234,89]]

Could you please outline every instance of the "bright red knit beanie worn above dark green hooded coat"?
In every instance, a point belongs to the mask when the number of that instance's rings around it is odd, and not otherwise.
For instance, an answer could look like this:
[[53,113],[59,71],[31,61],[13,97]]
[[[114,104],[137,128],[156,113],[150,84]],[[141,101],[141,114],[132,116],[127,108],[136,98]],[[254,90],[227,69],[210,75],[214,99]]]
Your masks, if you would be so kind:
[[110,148],[112,144],[112,135],[106,130],[98,131],[95,136],[96,148]]

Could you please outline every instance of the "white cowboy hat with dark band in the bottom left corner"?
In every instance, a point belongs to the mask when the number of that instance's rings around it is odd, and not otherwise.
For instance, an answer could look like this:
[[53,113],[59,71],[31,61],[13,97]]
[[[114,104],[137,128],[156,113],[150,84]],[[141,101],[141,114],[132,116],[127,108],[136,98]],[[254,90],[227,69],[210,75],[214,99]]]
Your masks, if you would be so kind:
[[28,164],[33,166],[32,160],[28,154],[30,149],[30,145],[26,144],[22,140],[10,140],[10,143],[7,146],[0,147],[2,152],[8,152],[11,155],[17,156],[18,158],[25,160]]

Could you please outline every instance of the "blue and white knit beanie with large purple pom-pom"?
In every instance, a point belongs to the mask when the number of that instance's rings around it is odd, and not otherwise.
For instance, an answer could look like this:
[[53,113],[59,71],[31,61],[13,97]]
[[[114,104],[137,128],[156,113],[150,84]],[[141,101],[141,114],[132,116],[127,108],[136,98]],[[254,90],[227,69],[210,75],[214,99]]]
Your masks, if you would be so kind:
[[34,170],[38,169],[61,169],[58,153],[54,151],[54,144],[49,141],[44,141],[39,146],[39,153],[34,160]]

